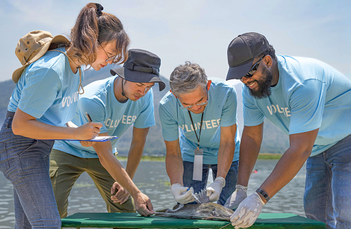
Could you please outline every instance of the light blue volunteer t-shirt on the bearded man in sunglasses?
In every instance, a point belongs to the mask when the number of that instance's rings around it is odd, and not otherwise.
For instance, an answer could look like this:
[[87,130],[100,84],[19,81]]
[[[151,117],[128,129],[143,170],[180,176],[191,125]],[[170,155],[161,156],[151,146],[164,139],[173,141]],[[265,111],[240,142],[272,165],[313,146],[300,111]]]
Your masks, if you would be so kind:
[[317,59],[277,58],[279,80],[268,98],[253,98],[243,84],[244,124],[268,118],[289,135],[319,128],[311,156],[350,135],[351,81]]

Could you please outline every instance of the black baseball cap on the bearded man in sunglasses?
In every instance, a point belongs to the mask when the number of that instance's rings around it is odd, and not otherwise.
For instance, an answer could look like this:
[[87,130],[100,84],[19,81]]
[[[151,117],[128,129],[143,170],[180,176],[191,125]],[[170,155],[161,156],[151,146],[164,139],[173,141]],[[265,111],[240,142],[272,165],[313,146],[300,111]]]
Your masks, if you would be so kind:
[[269,48],[265,36],[250,32],[237,36],[228,46],[229,71],[226,80],[239,79],[250,71],[255,57]]

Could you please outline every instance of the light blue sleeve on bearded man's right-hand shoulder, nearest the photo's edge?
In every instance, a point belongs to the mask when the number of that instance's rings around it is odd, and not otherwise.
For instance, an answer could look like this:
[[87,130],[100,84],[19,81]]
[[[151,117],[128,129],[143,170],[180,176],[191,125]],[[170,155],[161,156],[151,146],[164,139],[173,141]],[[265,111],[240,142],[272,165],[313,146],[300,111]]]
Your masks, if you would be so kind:
[[289,99],[289,134],[304,133],[320,128],[326,99],[325,84],[308,79],[291,93]]

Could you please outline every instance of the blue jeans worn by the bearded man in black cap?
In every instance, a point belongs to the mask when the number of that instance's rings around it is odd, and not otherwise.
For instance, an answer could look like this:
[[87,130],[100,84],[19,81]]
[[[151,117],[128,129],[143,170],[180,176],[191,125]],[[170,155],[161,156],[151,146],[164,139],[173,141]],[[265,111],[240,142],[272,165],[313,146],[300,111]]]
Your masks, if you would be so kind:
[[327,228],[351,228],[351,135],[307,159],[304,211]]

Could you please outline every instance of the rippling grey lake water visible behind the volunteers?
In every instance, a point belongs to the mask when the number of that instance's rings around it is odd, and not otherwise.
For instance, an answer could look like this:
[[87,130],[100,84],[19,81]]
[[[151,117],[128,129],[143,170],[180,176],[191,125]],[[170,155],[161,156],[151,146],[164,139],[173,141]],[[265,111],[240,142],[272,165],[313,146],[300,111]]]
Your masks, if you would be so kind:
[[[277,160],[258,160],[248,185],[248,194],[255,191],[272,172]],[[127,161],[121,161],[125,166]],[[262,213],[293,213],[304,216],[303,193],[305,166],[291,182],[276,193]],[[211,176],[209,176],[211,177]],[[153,203],[154,209],[170,208],[176,202],[170,193],[170,182],[163,161],[141,161],[134,177],[135,185]],[[211,183],[213,180],[209,180]],[[14,202],[11,183],[0,172],[0,228],[14,228]],[[101,198],[88,174],[82,174],[75,183],[69,197],[68,215],[78,212],[107,212]]]

